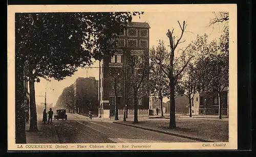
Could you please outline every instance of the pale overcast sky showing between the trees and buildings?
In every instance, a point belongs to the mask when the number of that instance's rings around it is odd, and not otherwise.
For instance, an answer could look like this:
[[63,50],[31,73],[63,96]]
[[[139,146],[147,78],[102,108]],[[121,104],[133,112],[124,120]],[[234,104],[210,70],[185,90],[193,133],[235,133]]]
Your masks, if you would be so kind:
[[[212,12],[145,12],[143,15],[133,17],[135,22],[148,22],[150,24],[150,47],[157,45],[159,39],[163,40],[168,45],[168,38],[166,32],[168,29],[174,29],[175,35],[180,35],[180,28],[178,20],[182,23],[183,20],[187,22],[186,32],[183,38],[186,42],[182,43],[181,47],[185,47],[189,42],[196,39],[197,34],[207,34],[209,40],[219,38],[222,34],[222,24],[216,25],[215,28],[208,27],[209,20],[214,17]],[[96,62],[92,67],[98,67],[99,63]],[[48,82],[41,79],[40,83],[35,84],[35,95],[45,95],[47,92],[47,103],[55,105],[59,95],[65,87],[70,86],[75,82],[78,77],[93,76],[99,79],[99,69],[81,69],[71,77],[67,77],[63,81],[52,80]],[[54,90],[53,90],[54,89]],[[44,102],[44,97],[36,97],[36,102]],[[168,101],[167,98],[164,102]]]

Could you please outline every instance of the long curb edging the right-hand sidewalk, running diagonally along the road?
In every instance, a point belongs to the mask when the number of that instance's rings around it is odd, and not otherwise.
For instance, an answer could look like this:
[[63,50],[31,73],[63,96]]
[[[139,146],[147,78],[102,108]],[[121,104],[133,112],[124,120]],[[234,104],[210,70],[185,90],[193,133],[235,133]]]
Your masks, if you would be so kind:
[[152,132],[177,136],[177,137],[181,137],[181,138],[185,138],[185,139],[189,139],[189,140],[195,140],[195,141],[199,141],[199,142],[216,142],[216,141],[209,141],[209,140],[204,140],[204,139],[200,139],[200,138],[194,138],[194,137],[189,137],[189,136],[184,136],[184,135],[179,135],[179,134],[174,134],[174,133],[167,133],[167,132],[163,132],[161,130],[142,127],[142,126],[136,126],[136,125],[132,125],[132,124],[125,124],[125,123],[120,123],[120,122],[113,122],[113,123],[120,124],[120,125],[126,125],[126,126],[132,126],[132,127],[141,128],[141,129],[144,129],[144,130],[150,130]]

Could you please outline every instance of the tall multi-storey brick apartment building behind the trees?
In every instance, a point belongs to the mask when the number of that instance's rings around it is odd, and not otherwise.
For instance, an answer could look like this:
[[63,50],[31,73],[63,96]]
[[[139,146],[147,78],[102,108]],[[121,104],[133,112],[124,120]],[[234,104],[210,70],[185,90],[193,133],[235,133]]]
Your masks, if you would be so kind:
[[[110,69],[123,68],[124,62],[127,65],[128,58],[132,56],[141,57],[144,54],[149,54],[149,29],[150,25],[146,22],[132,22],[128,24],[120,32],[117,44],[117,52],[113,57],[104,56],[104,59],[99,63],[99,99],[100,99],[100,115],[110,117],[115,115],[115,97],[111,88]],[[121,85],[121,92],[118,93],[116,102],[118,109],[123,112],[124,109],[124,85]],[[133,98],[126,98],[128,114],[134,112]],[[148,115],[149,100],[148,97],[143,97],[138,103],[138,114]],[[121,112],[119,115],[122,114]]]

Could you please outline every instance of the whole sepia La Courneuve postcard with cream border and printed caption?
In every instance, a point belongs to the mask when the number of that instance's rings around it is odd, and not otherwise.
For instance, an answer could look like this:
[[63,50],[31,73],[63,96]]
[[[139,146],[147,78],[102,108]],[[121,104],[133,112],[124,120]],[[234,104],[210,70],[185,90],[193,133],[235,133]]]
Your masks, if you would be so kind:
[[237,6],[8,6],[8,150],[237,149]]

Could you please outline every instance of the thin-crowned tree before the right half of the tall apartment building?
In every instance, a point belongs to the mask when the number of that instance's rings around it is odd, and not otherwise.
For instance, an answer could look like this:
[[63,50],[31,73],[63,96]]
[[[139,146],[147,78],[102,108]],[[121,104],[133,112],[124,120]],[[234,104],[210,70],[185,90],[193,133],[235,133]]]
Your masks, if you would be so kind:
[[149,56],[131,55],[127,63],[127,77],[132,85],[134,100],[134,123],[138,123],[138,101],[144,96],[148,96],[148,79],[149,79]]

